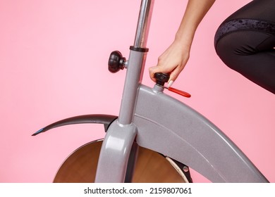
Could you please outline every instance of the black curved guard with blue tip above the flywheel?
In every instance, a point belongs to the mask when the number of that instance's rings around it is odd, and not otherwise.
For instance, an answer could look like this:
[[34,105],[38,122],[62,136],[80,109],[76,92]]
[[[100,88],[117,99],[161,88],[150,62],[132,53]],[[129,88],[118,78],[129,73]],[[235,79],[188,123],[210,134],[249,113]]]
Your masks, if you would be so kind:
[[105,132],[107,131],[111,122],[116,120],[117,116],[115,115],[104,115],[104,114],[90,114],[90,115],[79,115],[75,117],[69,117],[63,120],[59,120],[58,122],[54,122],[47,127],[39,129],[39,131],[32,134],[32,136],[36,136],[42,132],[47,132],[49,129],[54,129],[56,127],[61,127],[64,125],[75,125],[75,124],[85,124],[85,123],[98,123],[103,124]]

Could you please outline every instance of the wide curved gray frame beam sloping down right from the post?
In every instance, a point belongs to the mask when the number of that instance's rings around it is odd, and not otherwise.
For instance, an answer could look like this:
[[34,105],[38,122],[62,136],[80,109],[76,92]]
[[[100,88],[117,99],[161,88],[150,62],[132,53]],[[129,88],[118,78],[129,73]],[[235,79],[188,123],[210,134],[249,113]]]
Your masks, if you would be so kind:
[[178,160],[212,182],[268,182],[218,127],[159,87],[140,87],[133,123],[139,146]]

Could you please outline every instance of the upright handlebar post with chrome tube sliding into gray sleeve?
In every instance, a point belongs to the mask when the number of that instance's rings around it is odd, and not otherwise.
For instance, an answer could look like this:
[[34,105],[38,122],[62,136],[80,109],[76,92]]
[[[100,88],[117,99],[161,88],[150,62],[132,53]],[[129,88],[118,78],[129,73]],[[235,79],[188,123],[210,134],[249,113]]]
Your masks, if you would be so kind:
[[[142,0],[141,2],[134,45],[137,48],[146,46],[153,6],[154,0]],[[135,99],[145,68],[146,54],[145,51],[130,51],[121,109],[118,115],[118,122],[121,125],[129,125],[132,122]]]

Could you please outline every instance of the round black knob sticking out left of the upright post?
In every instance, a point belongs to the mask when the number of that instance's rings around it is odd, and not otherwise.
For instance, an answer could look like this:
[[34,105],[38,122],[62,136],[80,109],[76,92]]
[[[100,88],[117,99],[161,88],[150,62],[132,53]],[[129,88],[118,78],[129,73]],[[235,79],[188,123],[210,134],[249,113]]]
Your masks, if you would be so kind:
[[125,62],[126,58],[123,58],[121,52],[113,51],[109,57],[108,69],[112,73],[118,72],[118,70],[123,70]]

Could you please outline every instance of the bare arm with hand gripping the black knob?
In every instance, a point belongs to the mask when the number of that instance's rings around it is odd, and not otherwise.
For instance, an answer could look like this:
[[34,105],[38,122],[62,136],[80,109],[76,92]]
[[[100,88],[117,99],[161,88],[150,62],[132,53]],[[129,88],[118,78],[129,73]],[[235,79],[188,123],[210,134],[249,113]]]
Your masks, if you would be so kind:
[[188,62],[190,48],[193,42],[197,26],[204,15],[212,7],[215,0],[189,0],[181,25],[176,32],[173,43],[159,56],[157,66],[149,68],[149,74],[153,81],[154,73],[170,73],[169,85],[176,80],[178,75]]

